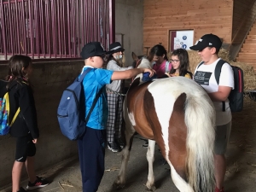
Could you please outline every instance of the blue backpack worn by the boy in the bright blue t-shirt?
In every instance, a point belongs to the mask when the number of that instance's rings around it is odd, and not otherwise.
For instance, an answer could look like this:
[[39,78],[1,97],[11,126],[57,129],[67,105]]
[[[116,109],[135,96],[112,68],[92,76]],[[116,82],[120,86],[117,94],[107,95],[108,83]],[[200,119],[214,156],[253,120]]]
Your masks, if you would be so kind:
[[100,90],[92,106],[90,112],[85,116],[85,96],[83,88],[84,76],[89,73],[91,68],[87,68],[84,73],[64,90],[61,96],[61,102],[57,110],[57,118],[61,128],[61,132],[64,136],[70,140],[78,140],[84,136],[86,131],[86,124],[90,118],[90,113],[96,105],[96,102],[102,94]]

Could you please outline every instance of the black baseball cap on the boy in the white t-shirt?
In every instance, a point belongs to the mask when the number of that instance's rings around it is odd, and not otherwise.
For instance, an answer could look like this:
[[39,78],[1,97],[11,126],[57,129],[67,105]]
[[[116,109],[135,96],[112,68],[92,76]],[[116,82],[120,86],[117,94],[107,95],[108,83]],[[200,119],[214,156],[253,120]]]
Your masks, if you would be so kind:
[[207,47],[215,47],[216,49],[220,49],[222,45],[222,41],[218,38],[217,35],[206,34],[202,36],[198,41],[196,41],[194,46],[189,47],[192,50],[202,50]]

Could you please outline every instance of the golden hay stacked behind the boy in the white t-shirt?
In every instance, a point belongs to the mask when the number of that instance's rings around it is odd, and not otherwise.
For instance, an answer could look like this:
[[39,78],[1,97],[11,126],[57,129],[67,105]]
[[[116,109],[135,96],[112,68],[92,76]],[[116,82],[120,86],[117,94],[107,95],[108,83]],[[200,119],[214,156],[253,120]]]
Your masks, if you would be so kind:
[[[189,67],[192,73],[195,72],[195,67],[201,62],[201,57],[195,50],[188,50],[189,53]],[[256,73],[253,71],[253,67],[244,62],[231,61],[229,51],[226,49],[220,49],[218,56],[224,61],[228,61],[230,65],[240,67],[243,71],[244,78],[244,91],[256,90]],[[168,54],[168,58],[171,59],[171,53]]]

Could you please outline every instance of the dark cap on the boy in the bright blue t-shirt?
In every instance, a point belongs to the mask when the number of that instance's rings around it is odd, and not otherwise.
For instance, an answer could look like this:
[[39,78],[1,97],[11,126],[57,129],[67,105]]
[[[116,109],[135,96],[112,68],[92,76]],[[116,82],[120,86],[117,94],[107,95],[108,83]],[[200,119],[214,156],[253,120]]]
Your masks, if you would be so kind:
[[100,42],[90,42],[85,44],[80,53],[81,57],[86,60],[91,56],[106,55],[108,52],[104,49]]

